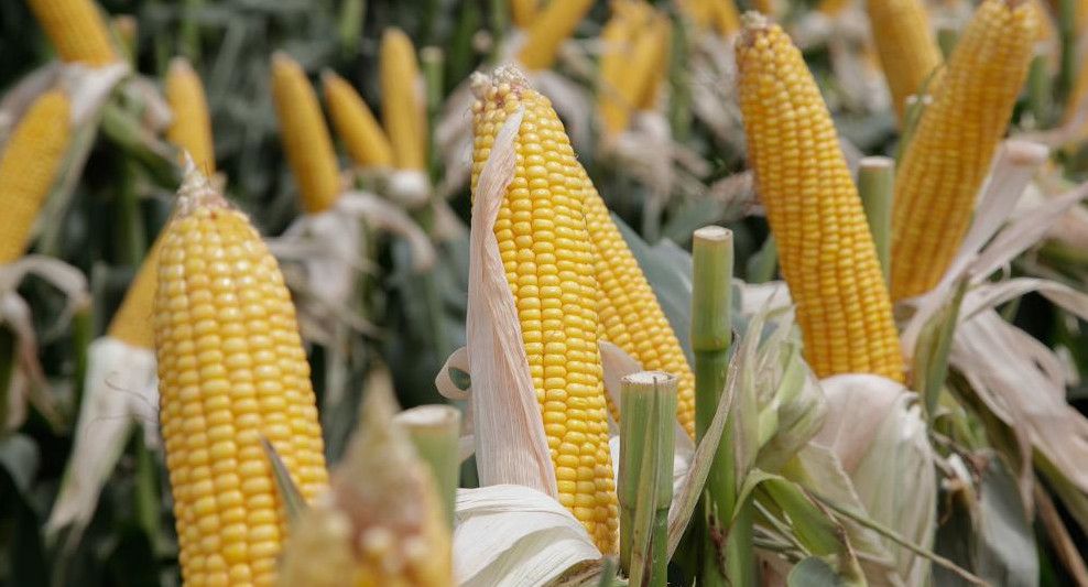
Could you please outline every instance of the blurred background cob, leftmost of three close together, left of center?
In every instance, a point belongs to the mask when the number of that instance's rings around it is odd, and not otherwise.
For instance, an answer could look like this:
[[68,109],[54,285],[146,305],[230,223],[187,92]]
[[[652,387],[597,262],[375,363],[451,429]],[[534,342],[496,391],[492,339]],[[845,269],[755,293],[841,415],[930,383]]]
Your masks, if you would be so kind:
[[280,120],[280,140],[309,214],[333,207],[340,195],[339,167],[314,87],[294,59],[272,56],[272,98]]

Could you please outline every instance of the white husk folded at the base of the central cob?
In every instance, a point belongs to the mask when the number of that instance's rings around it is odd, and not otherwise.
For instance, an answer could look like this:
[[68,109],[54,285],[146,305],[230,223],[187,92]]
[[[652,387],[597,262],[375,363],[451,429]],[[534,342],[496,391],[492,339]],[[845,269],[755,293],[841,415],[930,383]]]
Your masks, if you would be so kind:
[[459,489],[454,573],[461,587],[538,587],[600,551],[555,498],[518,485]]

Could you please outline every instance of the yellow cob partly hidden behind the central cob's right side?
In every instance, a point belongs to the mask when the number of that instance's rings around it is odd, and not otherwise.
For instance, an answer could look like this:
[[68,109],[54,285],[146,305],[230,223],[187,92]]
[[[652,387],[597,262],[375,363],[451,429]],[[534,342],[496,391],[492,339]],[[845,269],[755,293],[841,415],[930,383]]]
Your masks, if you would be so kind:
[[[601,338],[623,349],[643,369],[676,376],[676,421],[695,438],[695,376],[684,349],[608,206],[585,170],[581,176],[586,184],[586,226],[594,241]],[[609,404],[609,409],[619,421],[619,406]]]

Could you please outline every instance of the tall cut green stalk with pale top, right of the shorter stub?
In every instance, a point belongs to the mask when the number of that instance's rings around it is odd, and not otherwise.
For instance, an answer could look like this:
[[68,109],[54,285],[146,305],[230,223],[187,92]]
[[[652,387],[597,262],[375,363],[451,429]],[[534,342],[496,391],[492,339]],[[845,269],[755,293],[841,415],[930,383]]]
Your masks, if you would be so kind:
[[[695,231],[692,249],[692,351],[695,356],[695,434],[701,441],[726,387],[732,340],[732,231],[708,226]],[[738,520],[722,544],[723,521],[736,508],[732,414],[726,421],[703,494],[704,526],[699,584],[754,585],[750,520]],[[749,517],[750,518],[750,517]],[[746,524],[747,522],[747,524]],[[725,561],[725,566],[721,562]]]

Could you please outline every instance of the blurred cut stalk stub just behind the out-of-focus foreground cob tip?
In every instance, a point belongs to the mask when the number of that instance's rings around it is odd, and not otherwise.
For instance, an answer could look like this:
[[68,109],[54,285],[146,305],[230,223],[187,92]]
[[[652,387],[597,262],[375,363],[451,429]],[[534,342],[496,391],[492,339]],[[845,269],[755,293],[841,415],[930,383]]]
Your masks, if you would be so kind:
[[434,474],[438,497],[446,509],[446,521],[454,528],[454,500],[460,461],[457,458],[457,437],[460,435],[461,413],[451,405],[421,405],[396,415],[404,426],[420,457]]

